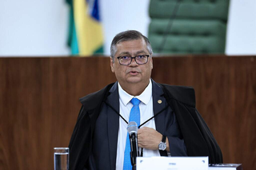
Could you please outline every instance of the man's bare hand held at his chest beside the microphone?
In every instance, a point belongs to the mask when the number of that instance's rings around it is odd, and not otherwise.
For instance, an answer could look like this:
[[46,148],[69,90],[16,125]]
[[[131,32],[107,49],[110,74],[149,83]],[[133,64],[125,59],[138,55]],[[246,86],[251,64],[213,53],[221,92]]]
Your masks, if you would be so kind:
[[162,140],[162,134],[154,128],[139,128],[138,129],[138,147],[147,148],[150,150],[158,150],[158,144]]

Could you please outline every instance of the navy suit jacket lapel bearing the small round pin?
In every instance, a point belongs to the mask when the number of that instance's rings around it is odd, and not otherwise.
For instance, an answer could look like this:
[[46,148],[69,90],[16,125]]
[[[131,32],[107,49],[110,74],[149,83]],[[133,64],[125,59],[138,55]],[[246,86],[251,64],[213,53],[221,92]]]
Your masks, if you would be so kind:
[[[152,96],[153,96],[153,110],[154,115],[160,112],[166,106],[166,99],[163,97],[162,88],[152,80]],[[165,132],[165,117],[166,114],[160,113],[157,117],[154,118],[156,130],[164,134]]]

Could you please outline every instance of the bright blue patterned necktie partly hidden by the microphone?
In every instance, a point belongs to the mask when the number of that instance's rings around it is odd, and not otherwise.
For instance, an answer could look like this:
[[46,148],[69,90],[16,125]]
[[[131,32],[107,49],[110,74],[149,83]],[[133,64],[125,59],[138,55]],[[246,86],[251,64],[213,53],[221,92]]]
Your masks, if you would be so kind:
[[[130,121],[135,121],[137,125],[140,125],[140,112],[139,112],[139,101],[137,98],[133,98],[130,100],[130,102],[134,105],[133,108],[130,110],[130,117],[129,117],[129,122]],[[126,150],[125,150],[125,159],[123,162],[123,170],[131,170],[132,165],[130,163],[130,138],[129,138],[129,133],[127,132],[127,137],[126,137]]]

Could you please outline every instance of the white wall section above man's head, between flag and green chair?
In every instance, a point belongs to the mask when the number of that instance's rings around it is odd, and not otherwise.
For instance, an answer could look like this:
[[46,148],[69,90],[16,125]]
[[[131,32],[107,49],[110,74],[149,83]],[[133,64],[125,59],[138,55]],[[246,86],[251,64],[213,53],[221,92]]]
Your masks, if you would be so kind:
[[104,27],[104,51],[110,55],[110,45],[114,36],[125,30],[138,30],[147,35],[150,17],[150,0],[100,0],[102,24]]

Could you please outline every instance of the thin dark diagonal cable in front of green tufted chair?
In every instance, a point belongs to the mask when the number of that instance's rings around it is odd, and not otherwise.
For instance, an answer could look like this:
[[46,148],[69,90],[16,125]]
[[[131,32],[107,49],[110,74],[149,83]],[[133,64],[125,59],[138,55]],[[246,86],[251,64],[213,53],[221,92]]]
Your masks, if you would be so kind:
[[170,29],[171,29],[171,27],[173,26],[174,20],[175,20],[177,14],[178,14],[178,9],[179,9],[180,4],[181,4],[181,0],[177,0],[177,1],[176,1],[176,4],[175,4],[175,6],[174,6],[173,14],[170,16],[169,22],[168,22],[168,24],[167,24],[167,26],[166,26],[166,31],[165,31],[164,34],[162,35],[162,42],[161,42],[161,44],[159,45],[159,48],[158,48],[158,52],[157,52],[157,53],[161,53],[163,47],[166,45],[167,34],[169,34]]

